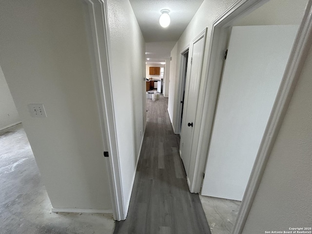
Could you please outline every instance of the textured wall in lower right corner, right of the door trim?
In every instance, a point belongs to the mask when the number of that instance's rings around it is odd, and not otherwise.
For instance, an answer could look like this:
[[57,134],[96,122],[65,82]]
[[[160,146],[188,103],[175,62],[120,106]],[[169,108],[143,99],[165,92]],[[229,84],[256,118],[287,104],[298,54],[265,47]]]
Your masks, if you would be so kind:
[[310,49],[242,234],[311,227],[311,74]]

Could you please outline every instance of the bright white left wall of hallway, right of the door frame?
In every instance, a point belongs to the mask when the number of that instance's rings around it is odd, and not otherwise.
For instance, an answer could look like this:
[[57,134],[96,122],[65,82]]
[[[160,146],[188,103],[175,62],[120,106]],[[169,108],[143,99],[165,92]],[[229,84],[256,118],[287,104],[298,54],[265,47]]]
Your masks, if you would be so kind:
[[145,41],[129,0],[107,1],[107,7],[117,147],[127,212],[146,123]]

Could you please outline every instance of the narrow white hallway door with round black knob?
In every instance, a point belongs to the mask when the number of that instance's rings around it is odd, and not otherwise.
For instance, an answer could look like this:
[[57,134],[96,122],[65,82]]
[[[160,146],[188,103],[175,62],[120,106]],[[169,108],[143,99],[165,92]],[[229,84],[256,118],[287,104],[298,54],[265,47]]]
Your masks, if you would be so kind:
[[[196,39],[193,43],[191,65],[187,69],[190,69],[190,75],[187,77],[185,87],[185,101],[183,108],[183,121],[180,141],[180,154],[184,164],[186,175],[189,172],[192,142],[193,142],[193,129],[196,124],[195,113],[196,104],[199,89],[199,79],[201,74],[201,64],[203,58],[204,40],[205,34],[199,39]],[[188,181],[189,182],[189,181]]]

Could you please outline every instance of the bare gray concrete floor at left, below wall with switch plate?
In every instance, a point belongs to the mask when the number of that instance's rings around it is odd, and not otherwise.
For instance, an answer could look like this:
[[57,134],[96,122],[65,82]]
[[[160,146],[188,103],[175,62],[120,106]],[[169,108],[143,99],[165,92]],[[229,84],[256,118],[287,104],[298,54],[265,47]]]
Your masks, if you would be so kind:
[[0,234],[112,234],[110,214],[52,213],[21,124],[0,131]]

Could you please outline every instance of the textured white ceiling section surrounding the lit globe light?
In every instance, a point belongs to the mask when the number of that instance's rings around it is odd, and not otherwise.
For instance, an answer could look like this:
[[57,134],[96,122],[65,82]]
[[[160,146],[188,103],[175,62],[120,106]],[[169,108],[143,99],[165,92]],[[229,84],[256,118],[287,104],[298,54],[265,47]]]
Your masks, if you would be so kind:
[[[130,0],[145,42],[177,41],[203,0]],[[159,25],[160,11],[170,10],[171,23]]]

